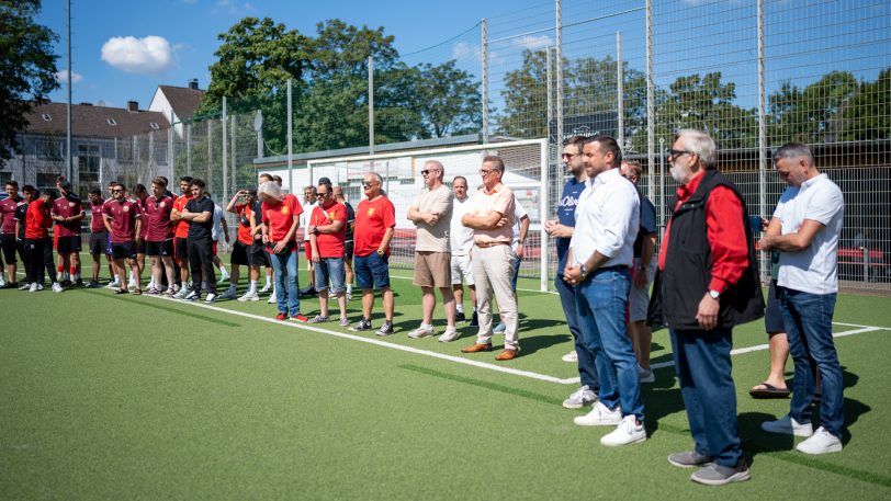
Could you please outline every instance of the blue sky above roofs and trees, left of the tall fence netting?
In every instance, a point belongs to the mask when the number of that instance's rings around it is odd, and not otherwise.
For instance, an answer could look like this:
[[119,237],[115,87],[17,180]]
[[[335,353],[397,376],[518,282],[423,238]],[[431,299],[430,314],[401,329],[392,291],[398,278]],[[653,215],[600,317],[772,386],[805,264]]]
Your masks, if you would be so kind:
[[[549,0],[282,1],[282,0],[72,0],[74,102],[124,106],[148,102],[158,84],[185,86],[198,78],[202,89],[218,46],[216,36],[251,15],[272,18],[289,29],[315,33],[327,19],[370,27],[384,26],[402,54],[450,38],[487,15],[501,15]],[[65,70],[66,1],[44,0],[37,21],[59,35],[57,66]],[[52,101],[67,100],[63,86]]]

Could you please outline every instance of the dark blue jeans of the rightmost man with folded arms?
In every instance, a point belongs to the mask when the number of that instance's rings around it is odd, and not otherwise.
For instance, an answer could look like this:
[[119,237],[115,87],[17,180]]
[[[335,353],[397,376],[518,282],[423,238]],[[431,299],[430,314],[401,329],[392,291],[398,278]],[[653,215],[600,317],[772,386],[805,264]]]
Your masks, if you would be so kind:
[[822,378],[820,424],[841,439],[845,405],[842,365],[832,339],[835,294],[810,294],[786,287],[777,287],[777,292],[789,353],[796,366],[789,415],[800,423],[811,422],[814,375],[810,360],[813,358]]

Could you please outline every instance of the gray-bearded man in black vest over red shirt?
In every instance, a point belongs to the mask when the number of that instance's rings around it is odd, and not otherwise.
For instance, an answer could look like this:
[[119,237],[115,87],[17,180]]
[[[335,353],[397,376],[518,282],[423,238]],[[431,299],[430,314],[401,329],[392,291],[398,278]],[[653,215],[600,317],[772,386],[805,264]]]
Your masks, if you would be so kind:
[[710,486],[748,480],[736,430],[731,374],[733,327],[764,316],[755,242],[745,198],[714,169],[714,140],[677,133],[668,162],[681,185],[659,249],[661,283],[651,320],[669,326],[680,395],[696,448],[668,456],[690,479]]

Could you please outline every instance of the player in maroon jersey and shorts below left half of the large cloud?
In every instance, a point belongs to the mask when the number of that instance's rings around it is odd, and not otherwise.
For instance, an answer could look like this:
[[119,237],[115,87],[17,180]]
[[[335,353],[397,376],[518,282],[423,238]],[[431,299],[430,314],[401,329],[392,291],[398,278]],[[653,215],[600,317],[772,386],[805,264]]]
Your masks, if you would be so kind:
[[[105,229],[111,234],[114,269],[117,272],[117,278],[121,283],[121,288],[115,291],[114,294],[127,294],[129,292],[124,281],[126,277],[124,259],[127,260],[127,264],[129,264],[133,274],[139,274],[139,270],[136,265],[136,251],[142,241],[139,232],[143,221],[139,217],[139,206],[136,202],[128,201],[126,196],[124,196],[125,193],[126,189],[123,184],[114,186],[112,190],[114,200],[106,202],[102,209],[105,216]],[[134,294],[143,294],[139,284],[136,284]]]

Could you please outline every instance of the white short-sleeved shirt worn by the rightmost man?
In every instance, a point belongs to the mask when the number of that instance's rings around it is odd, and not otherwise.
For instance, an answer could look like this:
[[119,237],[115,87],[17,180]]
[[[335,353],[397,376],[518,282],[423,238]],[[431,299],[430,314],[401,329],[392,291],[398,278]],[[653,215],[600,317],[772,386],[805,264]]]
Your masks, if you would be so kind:
[[774,217],[782,221],[782,235],[798,231],[804,219],[824,227],[803,251],[780,252],[778,285],[810,294],[838,292],[838,237],[844,216],[842,190],[826,174],[782,192],[774,210]]

